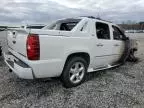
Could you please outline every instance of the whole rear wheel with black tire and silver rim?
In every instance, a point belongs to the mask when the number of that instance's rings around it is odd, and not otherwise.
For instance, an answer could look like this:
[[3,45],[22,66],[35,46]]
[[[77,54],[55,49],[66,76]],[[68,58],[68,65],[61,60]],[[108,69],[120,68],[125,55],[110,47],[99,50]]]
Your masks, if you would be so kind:
[[64,67],[61,81],[66,88],[76,87],[86,79],[88,63],[82,57],[70,58]]

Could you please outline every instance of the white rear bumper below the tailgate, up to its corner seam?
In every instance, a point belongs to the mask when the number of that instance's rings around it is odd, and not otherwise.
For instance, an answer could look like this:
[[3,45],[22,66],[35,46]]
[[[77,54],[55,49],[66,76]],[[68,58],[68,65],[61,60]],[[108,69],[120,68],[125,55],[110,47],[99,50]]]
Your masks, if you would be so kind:
[[32,68],[10,53],[4,53],[5,63],[20,78],[34,79]]

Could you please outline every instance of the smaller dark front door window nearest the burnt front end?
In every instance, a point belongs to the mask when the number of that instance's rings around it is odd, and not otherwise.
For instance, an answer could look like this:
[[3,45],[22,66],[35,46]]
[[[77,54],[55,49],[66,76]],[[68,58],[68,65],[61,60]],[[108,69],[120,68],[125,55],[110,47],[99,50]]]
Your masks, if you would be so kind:
[[114,40],[122,40],[124,39],[124,34],[120,31],[120,29],[116,26],[112,26],[113,28],[113,36]]

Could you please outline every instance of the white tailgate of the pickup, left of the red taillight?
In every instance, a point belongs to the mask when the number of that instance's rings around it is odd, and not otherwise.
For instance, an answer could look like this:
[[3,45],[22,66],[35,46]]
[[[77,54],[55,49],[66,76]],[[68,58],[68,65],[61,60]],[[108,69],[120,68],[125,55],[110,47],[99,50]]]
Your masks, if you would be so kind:
[[25,29],[8,30],[8,47],[26,56],[26,40],[29,32]]

